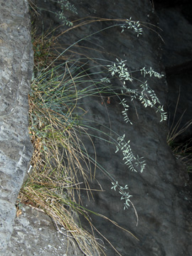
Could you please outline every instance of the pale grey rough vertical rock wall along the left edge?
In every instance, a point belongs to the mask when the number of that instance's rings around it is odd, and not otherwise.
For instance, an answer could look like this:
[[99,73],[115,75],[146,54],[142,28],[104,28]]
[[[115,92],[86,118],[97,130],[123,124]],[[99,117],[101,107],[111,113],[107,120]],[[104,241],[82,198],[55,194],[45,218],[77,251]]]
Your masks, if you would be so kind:
[[11,237],[16,197],[32,146],[28,92],[33,70],[28,2],[0,0],[0,251]]

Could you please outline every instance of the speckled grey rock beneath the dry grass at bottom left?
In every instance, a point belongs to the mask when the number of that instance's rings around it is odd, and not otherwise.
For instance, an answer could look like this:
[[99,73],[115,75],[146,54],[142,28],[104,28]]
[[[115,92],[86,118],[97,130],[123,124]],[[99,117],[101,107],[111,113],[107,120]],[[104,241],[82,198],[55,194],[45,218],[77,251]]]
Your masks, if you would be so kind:
[[7,256],[82,256],[68,233],[57,232],[46,213],[29,206],[22,207],[22,214],[16,218]]

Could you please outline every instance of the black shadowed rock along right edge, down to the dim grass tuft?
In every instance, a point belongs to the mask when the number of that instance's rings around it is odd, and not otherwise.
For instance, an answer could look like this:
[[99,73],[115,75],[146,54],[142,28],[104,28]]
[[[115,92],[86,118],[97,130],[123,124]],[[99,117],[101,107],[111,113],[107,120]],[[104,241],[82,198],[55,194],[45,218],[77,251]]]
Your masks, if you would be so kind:
[[[165,66],[169,87],[169,127],[174,127],[183,115],[179,131],[192,120],[192,25],[183,16],[181,8],[159,9],[158,15],[159,27],[163,30],[164,38],[162,63]],[[190,126],[177,137],[176,142],[186,142],[191,136]]]

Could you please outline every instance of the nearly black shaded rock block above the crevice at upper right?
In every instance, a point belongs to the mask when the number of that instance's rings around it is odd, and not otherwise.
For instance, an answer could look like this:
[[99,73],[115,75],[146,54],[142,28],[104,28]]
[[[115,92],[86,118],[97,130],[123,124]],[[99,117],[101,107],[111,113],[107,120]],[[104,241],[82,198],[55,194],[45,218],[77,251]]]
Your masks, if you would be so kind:
[[166,68],[182,65],[191,61],[191,23],[179,9],[158,11],[159,27],[164,39],[163,63]]

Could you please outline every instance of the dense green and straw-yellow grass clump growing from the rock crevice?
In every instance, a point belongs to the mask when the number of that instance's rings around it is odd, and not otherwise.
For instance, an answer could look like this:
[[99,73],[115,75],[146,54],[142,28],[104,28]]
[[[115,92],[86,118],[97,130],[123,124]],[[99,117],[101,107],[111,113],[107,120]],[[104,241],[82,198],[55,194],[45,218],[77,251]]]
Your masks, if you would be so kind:
[[81,116],[75,112],[78,91],[67,63],[47,69],[54,58],[51,47],[47,36],[33,39],[35,68],[28,97],[33,172],[18,199],[47,213],[60,232],[63,227],[69,237],[75,238],[85,255],[99,255],[102,246],[78,220],[78,215],[84,215],[90,222],[87,210],[80,206],[78,174],[87,191],[87,174],[91,174],[90,159],[77,134],[84,132]]

